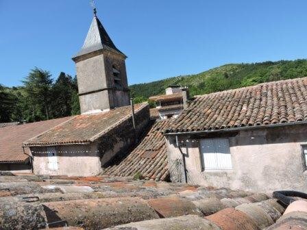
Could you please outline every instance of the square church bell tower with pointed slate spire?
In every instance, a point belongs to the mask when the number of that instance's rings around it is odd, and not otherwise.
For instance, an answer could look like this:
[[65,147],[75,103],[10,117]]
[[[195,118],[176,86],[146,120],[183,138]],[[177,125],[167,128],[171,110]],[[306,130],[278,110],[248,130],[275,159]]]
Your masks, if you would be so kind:
[[115,47],[94,8],[84,44],[73,57],[82,114],[130,104],[125,59],[126,55]]

